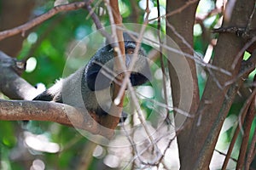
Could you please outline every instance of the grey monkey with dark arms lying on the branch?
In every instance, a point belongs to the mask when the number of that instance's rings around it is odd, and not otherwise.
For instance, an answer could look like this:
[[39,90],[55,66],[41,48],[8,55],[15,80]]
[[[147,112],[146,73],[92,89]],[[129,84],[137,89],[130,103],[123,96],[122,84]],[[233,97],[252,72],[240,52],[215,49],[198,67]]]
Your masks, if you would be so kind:
[[[137,42],[127,33],[124,33],[125,66],[131,63]],[[112,103],[113,81],[113,48],[111,44],[97,50],[88,64],[75,71],[72,75],[55,82],[55,84],[39,94],[33,100],[54,101],[84,108],[95,112],[97,116],[106,116]],[[131,71],[131,85],[133,87],[148,82],[151,72],[148,65],[147,54],[140,47],[137,62]],[[125,121],[127,114],[122,113],[120,122]]]

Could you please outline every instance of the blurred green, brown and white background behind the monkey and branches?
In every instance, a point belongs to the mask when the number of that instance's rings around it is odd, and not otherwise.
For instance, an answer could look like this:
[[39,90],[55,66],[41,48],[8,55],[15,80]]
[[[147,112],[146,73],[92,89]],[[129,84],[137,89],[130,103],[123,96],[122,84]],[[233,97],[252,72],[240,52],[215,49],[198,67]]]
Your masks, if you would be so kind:
[[[69,1],[74,2],[74,1]],[[199,55],[205,62],[209,62],[212,56],[212,48],[216,43],[217,35],[211,33],[212,28],[219,27],[222,20],[220,1],[201,0],[197,8],[196,23],[194,26],[195,55]],[[0,1],[0,29],[1,31],[20,26],[27,20],[32,20],[40,14],[44,14],[53,8],[57,3],[67,3],[63,1],[41,1],[41,0],[1,0]],[[119,8],[124,23],[142,24],[145,17],[146,0],[125,1],[119,0]],[[95,12],[102,21],[103,26],[109,26],[108,12],[103,2],[95,1]],[[157,7],[154,0],[149,0],[149,8],[151,10],[149,19],[157,17]],[[166,13],[166,2],[160,0],[160,14]],[[149,26],[157,28],[157,20],[149,23]],[[165,33],[165,20],[161,20],[161,31]],[[72,65],[66,63],[71,50],[77,46],[84,37],[96,31],[96,26],[90,19],[90,15],[84,9],[56,14],[49,20],[46,20],[39,26],[34,27],[30,31],[26,31],[22,36],[9,37],[0,42],[0,49],[6,54],[17,58],[27,59],[26,71],[22,77],[30,82],[39,90],[44,91],[49,88],[56,79],[63,77],[65,67],[75,71],[81,65],[79,59],[73,59]],[[147,31],[146,31],[147,34]],[[157,39],[157,35],[153,35]],[[104,42],[102,42],[103,44]],[[86,48],[93,44],[87,44]],[[152,100],[164,103],[164,94],[162,89],[162,72],[160,70],[159,54],[154,48],[143,46],[149,57],[154,59],[151,68],[153,73],[154,86],[149,83],[137,89],[140,105],[144,115],[154,110]],[[82,50],[77,53],[83,55]],[[85,49],[85,48],[84,48]],[[249,54],[245,54],[247,59]],[[84,56],[84,64],[91,56]],[[207,74],[198,66],[198,78],[200,93],[202,93]],[[0,71],[1,74],[1,71]],[[250,75],[248,82],[253,81],[255,71]],[[67,75],[65,75],[67,76]],[[139,93],[140,92],[140,93]],[[154,92],[154,93],[153,93]],[[243,94],[244,93],[244,94]],[[224,122],[224,127],[220,133],[216,152],[212,158],[212,169],[220,168],[224,161],[225,153],[230,144],[230,140],[234,134],[238,124],[238,115],[247,95],[247,91],[241,92],[236,98],[236,102],[232,105],[230,114]],[[170,92],[168,96],[171,96]],[[6,96],[0,94],[0,98],[7,99]],[[171,97],[169,98],[171,99]],[[172,102],[172,99],[169,101]],[[125,105],[129,104],[129,98],[125,99]],[[170,104],[171,105],[171,104]],[[172,111],[170,111],[172,115]],[[130,122],[131,126],[136,122]],[[132,124],[134,123],[134,124]],[[254,119],[253,128],[256,126]],[[120,128],[120,127],[118,127]],[[156,128],[152,126],[152,128]],[[238,137],[235,149],[231,157],[237,159],[241,134]],[[174,135],[172,135],[173,137]],[[250,134],[252,141],[253,132]],[[170,139],[170,138],[169,138]],[[20,122],[0,122],[0,168],[9,169],[156,169],[157,167],[148,167],[141,165],[136,167],[133,158],[131,146],[124,148],[115,147],[119,144],[127,142],[123,135],[116,135],[110,146],[104,146],[91,142],[89,139],[79,133],[72,127],[62,126],[54,122],[29,122],[26,127]],[[163,149],[168,142],[162,141]],[[143,143],[142,145],[147,145]],[[145,148],[145,147],[143,147]],[[160,148],[161,149],[161,148]],[[135,158],[134,158],[135,159]],[[178,153],[177,144],[173,145],[166,152],[166,167],[178,169]],[[256,162],[254,160],[254,167]],[[234,168],[235,161],[230,161],[229,169]],[[166,167],[162,167],[163,169]],[[160,167],[161,168],[161,167]]]

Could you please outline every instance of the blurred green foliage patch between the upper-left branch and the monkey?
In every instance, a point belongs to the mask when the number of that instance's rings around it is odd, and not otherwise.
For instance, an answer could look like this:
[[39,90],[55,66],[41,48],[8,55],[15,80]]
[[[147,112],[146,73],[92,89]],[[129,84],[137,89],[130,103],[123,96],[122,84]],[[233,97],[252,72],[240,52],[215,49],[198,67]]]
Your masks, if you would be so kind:
[[36,34],[39,44],[27,40],[24,42],[20,58],[27,57],[28,52],[33,50],[31,56],[37,59],[35,71],[23,74],[28,82],[32,84],[43,82],[49,87],[49,84],[62,76],[70,43],[91,31],[91,20],[84,20],[87,14],[85,10],[58,14],[38,27]]

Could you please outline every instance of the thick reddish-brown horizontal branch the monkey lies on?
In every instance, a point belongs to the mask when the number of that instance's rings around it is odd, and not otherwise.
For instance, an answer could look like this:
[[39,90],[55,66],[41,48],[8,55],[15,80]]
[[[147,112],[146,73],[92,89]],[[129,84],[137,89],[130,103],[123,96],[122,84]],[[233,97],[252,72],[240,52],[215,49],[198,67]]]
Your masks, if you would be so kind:
[[0,99],[0,120],[58,122],[108,137],[88,113],[54,102]]

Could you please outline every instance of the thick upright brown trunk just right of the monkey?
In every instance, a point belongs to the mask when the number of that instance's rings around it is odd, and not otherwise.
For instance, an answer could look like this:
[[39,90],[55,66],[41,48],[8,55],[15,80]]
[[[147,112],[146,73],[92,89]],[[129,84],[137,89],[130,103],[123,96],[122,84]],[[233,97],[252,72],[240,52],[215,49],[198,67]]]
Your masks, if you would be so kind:
[[[182,53],[192,56],[194,55],[193,26],[195,24],[195,10],[198,3],[199,1],[196,0],[166,2],[166,16],[168,16],[166,17],[166,34],[177,43]],[[186,10],[183,10],[184,8]],[[183,12],[180,13],[181,11]],[[172,44],[172,42],[169,43]],[[172,56],[172,58],[168,59],[168,70],[171,79],[173,106],[194,115],[200,99],[195,60],[187,57],[183,59],[183,57],[177,56],[177,54],[173,54],[171,51],[168,51],[168,53],[168,56]],[[177,67],[180,67],[178,64],[182,62],[185,66],[182,65],[183,69],[178,71]],[[180,77],[182,77],[182,80],[179,80]],[[183,100],[182,92],[190,95],[187,96],[188,99],[192,98],[191,106],[189,106],[189,102],[181,101]],[[187,158],[185,158],[186,155],[188,156],[186,148],[189,147],[187,141],[189,140],[189,130],[194,119],[188,119],[186,116],[176,114],[175,120],[176,127],[184,127],[183,131],[177,136],[181,169],[183,169],[183,165],[188,165]],[[181,124],[181,122],[184,123]]]

